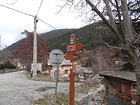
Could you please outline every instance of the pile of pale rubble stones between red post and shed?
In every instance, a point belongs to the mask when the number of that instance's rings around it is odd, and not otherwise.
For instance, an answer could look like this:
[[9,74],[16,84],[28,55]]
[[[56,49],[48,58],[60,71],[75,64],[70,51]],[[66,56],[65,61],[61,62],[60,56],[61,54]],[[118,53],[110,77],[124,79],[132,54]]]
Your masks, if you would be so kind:
[[106,93],[104,79],[97,74],[87,82],[92,83],[88,94],[78,94],[75,101],[80,105],[104,105],[104,96]]

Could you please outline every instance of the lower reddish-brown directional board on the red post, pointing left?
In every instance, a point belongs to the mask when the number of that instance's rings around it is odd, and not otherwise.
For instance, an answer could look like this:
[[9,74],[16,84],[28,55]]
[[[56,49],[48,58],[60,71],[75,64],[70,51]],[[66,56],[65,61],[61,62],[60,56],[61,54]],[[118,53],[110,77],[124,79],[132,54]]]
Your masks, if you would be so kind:
[[78,60],[78,54],[75,54],[74,52],[67,52],[64,57],[66,60],[70,60],[71,62]]

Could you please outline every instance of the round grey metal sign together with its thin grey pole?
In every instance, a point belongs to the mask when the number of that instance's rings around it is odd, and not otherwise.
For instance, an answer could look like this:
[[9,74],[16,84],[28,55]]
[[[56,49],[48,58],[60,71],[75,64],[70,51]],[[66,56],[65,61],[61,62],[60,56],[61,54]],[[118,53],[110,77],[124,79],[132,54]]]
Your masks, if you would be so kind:
[[58,70],[63,60],[64,60],[64,54],[61,50],[55,49],[51,51],[49,55],[49,62],[53,67],[56,68],[56,87],[55,87],[55,95],[54,95],[55,102],[56,102],[56,97],[57,97]]

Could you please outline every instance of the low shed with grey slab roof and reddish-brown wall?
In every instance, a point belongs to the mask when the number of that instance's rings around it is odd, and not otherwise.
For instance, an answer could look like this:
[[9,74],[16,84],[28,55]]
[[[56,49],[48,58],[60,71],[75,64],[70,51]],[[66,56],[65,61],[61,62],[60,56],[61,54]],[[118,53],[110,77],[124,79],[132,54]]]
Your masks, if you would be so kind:
[[128,71],[104,71],[99,73],[105,78],[107,94],[135,104],[137,97],[136,74]]

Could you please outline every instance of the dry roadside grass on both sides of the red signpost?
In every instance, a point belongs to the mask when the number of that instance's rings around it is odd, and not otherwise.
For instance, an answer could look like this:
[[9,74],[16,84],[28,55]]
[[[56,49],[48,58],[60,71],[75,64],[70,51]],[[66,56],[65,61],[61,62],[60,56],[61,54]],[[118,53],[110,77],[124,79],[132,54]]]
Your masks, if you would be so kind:
[[[93,87],[99,87],[99,84],[93,81],[87,81],[82,83],[79,86],[75,87],[75,97],[77,97],[78,94],[88,94],[89,90]],[[57,101],[56,103],[53,101],[54,96],[46,94],[43,99],[39,99],[34,101],[37,105],[69,105],[69,94],[65,93],[58,93],[57,94]],[[77,102],[75,102],[75,105],[80,105]]]

